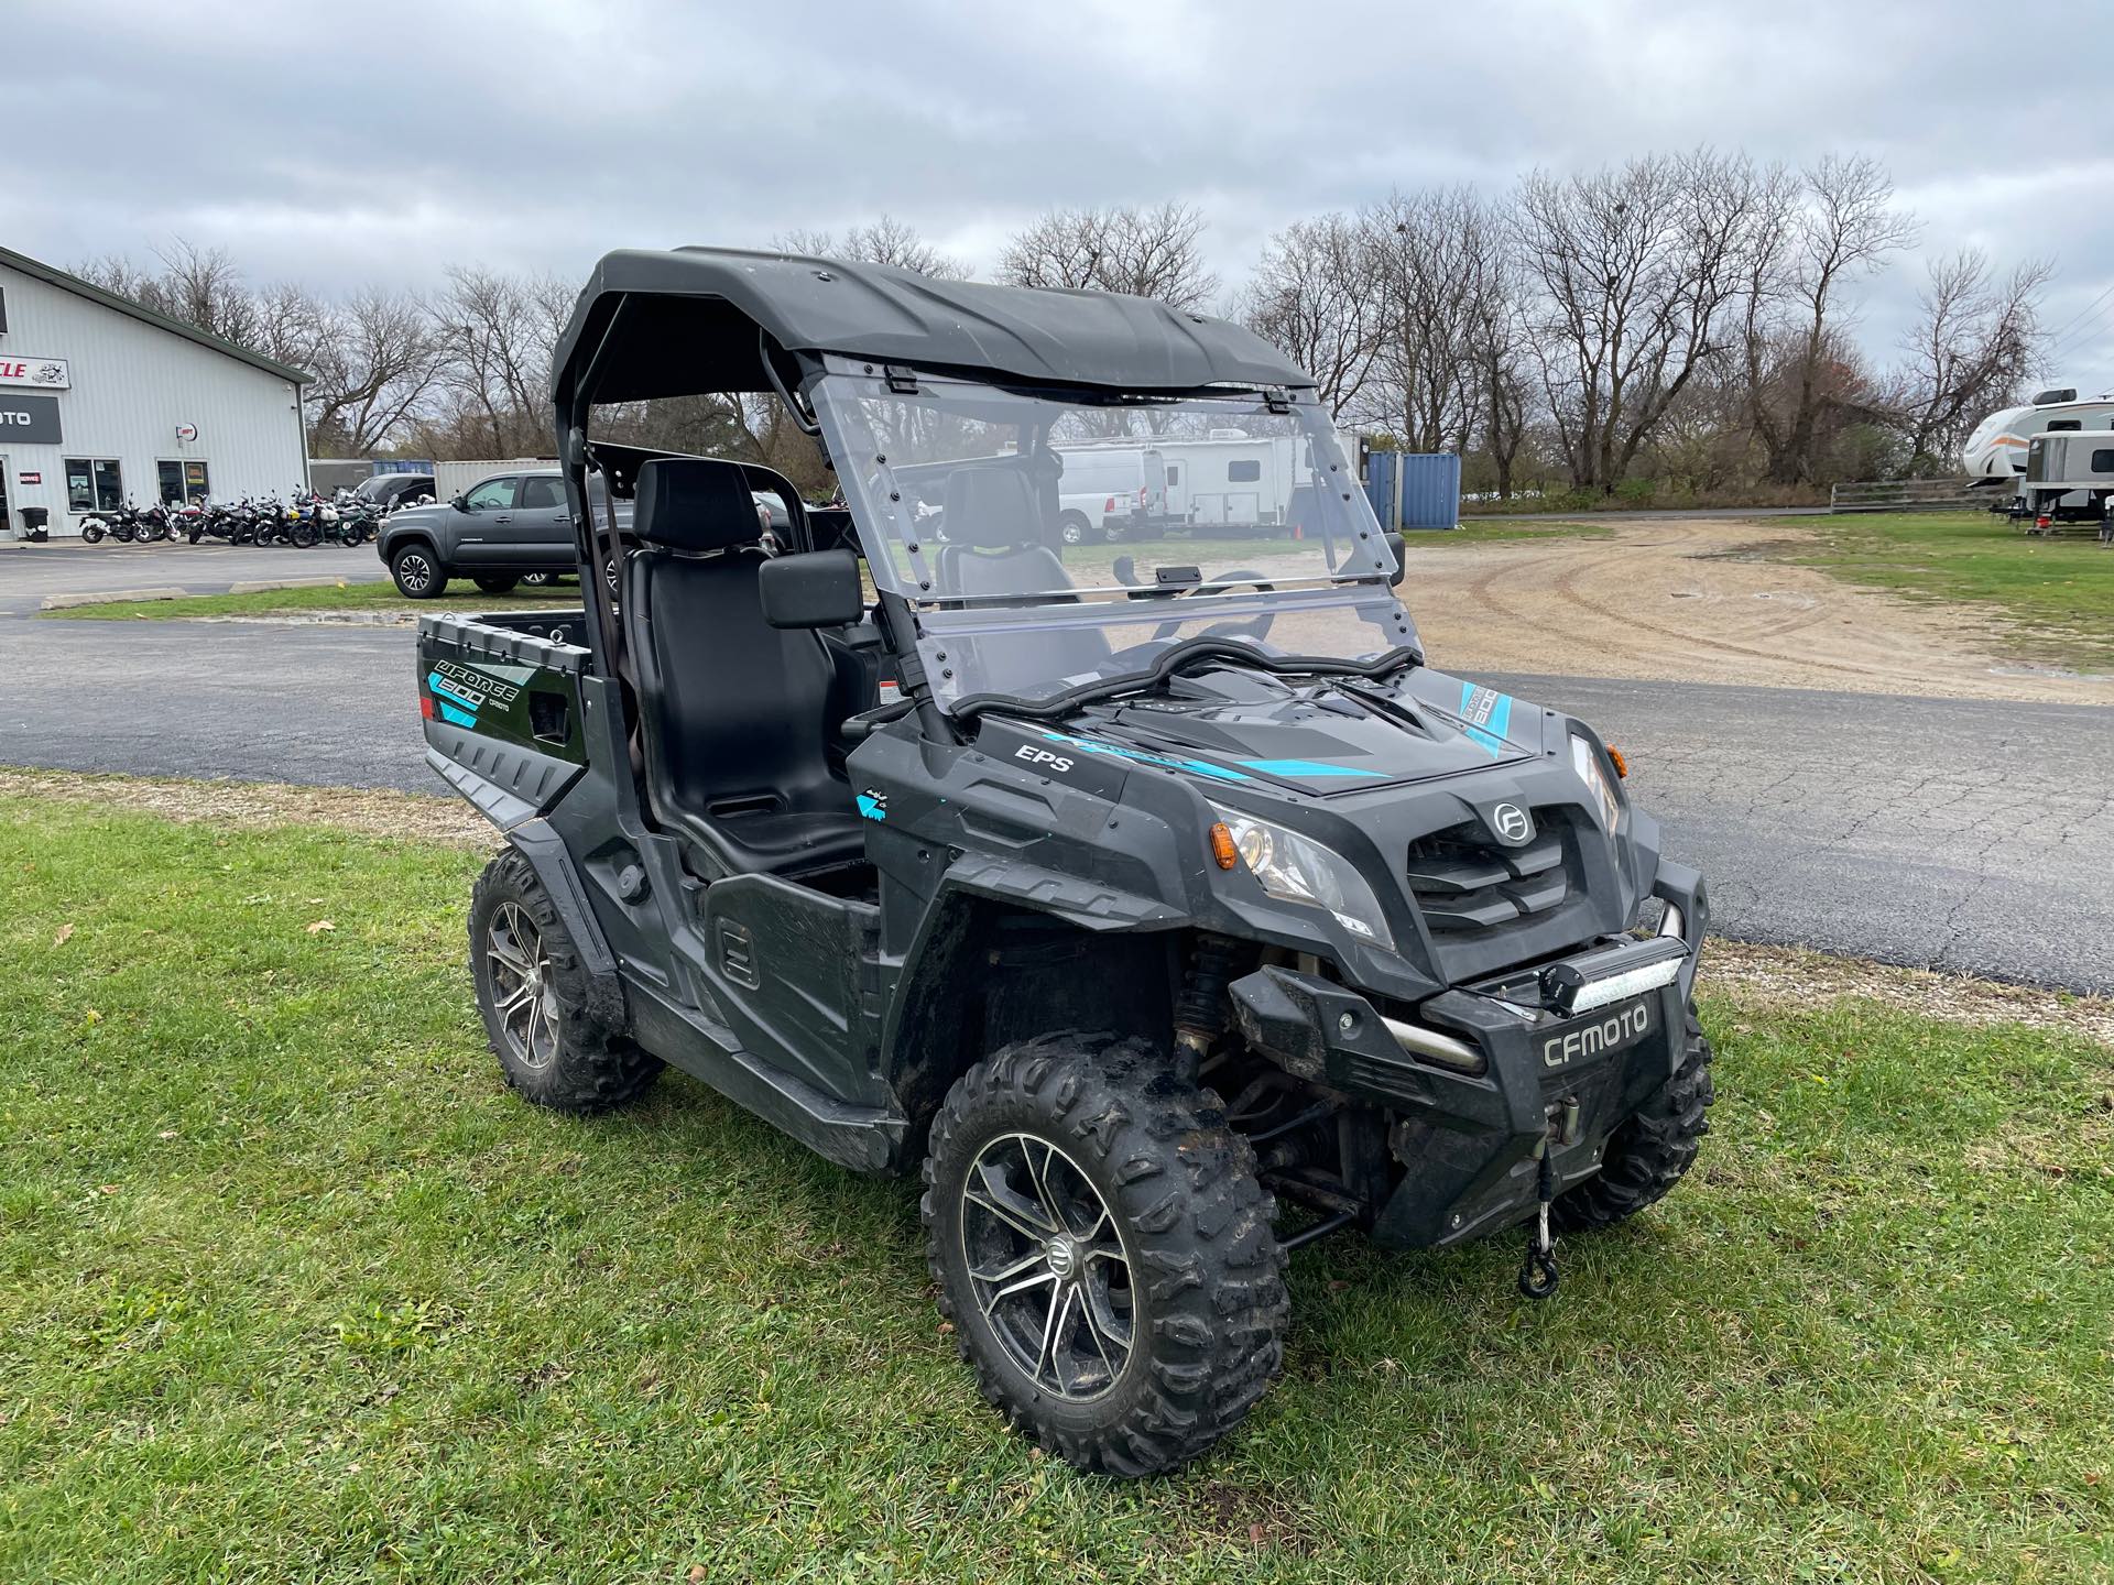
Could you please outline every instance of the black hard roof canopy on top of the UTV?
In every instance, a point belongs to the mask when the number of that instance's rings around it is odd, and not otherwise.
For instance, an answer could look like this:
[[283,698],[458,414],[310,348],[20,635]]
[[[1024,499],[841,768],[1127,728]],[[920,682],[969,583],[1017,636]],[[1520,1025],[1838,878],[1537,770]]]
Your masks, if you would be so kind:
[[607,254],[558,338],[569,404],[767,391],[757,332],[793,353],[1118,391],[1313,385],[1254,332],[1112,292],[934,281],[886,264],[679,247]]

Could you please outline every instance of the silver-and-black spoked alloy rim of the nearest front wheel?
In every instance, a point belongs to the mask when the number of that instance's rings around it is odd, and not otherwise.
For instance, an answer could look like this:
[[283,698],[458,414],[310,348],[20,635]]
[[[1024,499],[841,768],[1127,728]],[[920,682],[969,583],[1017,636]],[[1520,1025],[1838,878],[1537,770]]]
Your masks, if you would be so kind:
[[1131,1255],[1108,1202],[1049,1139],[991,1139],[962,1181],[962,1266],[1015,1367],[1095,1399],[1131,1363]]

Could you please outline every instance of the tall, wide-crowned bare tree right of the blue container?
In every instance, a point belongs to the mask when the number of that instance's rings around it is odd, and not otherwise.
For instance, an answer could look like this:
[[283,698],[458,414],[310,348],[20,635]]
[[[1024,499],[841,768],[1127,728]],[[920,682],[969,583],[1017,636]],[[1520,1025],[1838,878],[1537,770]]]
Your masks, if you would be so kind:
[[1573,484],[1613,490],[1712,351],[1759,241],[1761,182],[1710,150],[1520,184],[1535,357]]

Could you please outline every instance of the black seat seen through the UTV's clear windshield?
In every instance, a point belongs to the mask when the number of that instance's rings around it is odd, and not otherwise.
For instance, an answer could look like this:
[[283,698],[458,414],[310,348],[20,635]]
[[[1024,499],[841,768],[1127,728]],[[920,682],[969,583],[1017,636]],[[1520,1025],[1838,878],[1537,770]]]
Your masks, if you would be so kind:
[[[1019,602],[1076,602],[1061,594],[1072,588],[1072,579],[1051,549],[1034,482],[1017,467],[956,469],[947,478],[943,522],[947,545],[937,564],[941,594],[979,598],[1034,592],[1042,598]],[[1095,672],[1110,655],[1108,638],[1080,628],[981,634],[966,640],[964,649],[977,657],[979,678],[1000,691]]]

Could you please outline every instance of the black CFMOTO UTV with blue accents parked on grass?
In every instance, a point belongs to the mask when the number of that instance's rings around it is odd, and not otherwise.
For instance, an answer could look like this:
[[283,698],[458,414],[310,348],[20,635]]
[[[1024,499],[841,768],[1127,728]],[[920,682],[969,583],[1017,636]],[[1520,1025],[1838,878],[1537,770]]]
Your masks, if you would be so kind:
[[[696,393],[782,402],[846,507],[590,435]],[[505,833],[469,945],[526,1099],[594,1112],[672,1063],[922,1173],[985,1397],[1120,1475],[1256,1403],[1300,1243],[1528,1224],[1545,1295],[1552,1230],[1687,1171],[1700,877],[1592,729],[1425,666],[1399,541],[1256,336],[624,251],[554,397],[579,564],[617,577],[419,628],[427,759]],[[1296,459],[1298,539],[1063,541],[1070,456],[1228,431]]]

